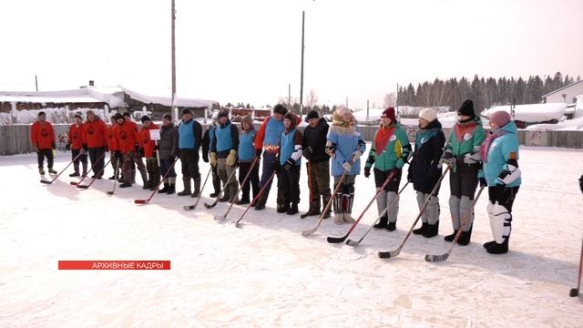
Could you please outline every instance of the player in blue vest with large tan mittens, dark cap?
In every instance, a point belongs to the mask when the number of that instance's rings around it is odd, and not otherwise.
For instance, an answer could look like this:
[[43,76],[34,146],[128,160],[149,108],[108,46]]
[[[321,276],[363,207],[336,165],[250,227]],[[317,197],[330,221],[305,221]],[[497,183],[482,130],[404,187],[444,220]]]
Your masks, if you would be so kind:
[[[222,197],[219,201],[237,201],[239,184],[231,173],[237,169],[237,149],[239,149],[239,129],[230,122],[229,111],[219,112],[219,126],[210,140],[210,165],[217,167],[222,181]],[[230,178],[230,179],[229,179]]]

